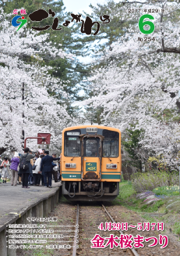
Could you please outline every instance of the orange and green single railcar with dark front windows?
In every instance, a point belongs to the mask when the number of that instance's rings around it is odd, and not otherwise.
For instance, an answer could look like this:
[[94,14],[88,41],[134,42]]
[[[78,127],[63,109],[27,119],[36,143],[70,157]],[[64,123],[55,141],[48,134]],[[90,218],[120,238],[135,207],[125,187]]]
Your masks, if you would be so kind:
[[114,200],[122,172],[120,130],[101,125],[65,128],[60,166],[67,200]]

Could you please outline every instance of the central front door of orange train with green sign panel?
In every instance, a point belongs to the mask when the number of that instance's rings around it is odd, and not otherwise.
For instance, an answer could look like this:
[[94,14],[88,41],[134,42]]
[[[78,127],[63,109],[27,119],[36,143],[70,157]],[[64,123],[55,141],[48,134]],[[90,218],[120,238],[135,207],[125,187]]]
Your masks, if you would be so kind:
[[101,179],[101,141],[100,138],[83,139],[83,179]]

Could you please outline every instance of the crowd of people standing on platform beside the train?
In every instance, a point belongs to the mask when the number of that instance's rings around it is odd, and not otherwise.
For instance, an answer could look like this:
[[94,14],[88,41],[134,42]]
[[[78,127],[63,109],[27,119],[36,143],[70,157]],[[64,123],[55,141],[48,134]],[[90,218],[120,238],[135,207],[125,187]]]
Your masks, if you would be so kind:
[[[59,181],[59,160],[53,153],[49,156],[46,150],[39,150],[33,154],[29,148],[24,149],[24,153],[19,157],[19,153],[15,153],[11,159],[11,164],[7,157],[4,158],[0,168],[2,169],[3,183],[9,177],[9,166],[11,171],[11,185],[16,186],[19,178],[19,183],[22,183],[22,188],[30,188],[28,185],[44,186],[51,188],[52,175],[55,182]],[[1,177],[0,177],[1,178]],[[48,179],[48,180],[47,180]]]

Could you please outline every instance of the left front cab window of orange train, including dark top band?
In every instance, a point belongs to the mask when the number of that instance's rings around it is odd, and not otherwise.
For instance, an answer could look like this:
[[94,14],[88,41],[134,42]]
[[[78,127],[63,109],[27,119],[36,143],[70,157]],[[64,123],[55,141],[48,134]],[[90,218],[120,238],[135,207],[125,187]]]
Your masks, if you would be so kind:
[[65,157],[80,156],[79,130],[65,132]]

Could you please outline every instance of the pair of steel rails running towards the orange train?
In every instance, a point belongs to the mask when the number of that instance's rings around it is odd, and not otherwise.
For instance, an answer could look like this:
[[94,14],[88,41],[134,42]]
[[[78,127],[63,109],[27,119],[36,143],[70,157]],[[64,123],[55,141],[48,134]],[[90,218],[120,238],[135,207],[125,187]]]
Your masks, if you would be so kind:
[[[106,207],[104,207],[104,205],[102,204],[101,206],[101,209],[105,211],[105,213],[107,214],[108,218],[110,218],[111,222],[114,222],[115,223],[115,220],[112,218],[112,216],[110,215],[110,213],[108,212],[108,210],[106,209]],[[73,242],[73,246],[72,246],[72,256],[76,256],[76,252],[77,252],[77,234],[78,234],[78,229],[79,229],[79,204],[77,204],[77,210],[76,210],[76,232],[75,232],[75,236],[74,236],[74,242]],[[117,231],[116,231],[117,232]],[[119,230],[118,233],[120,233],[120,235],[124,235],[124,233]],[[88,250],[88,248],[87,248]],[[127,248],[125,250],[125,252],[129,252],[129,255],[132,255],[132,256],[139,256],[139,254],[132,248]],[[127,253],[126,253],[127,255]]]

